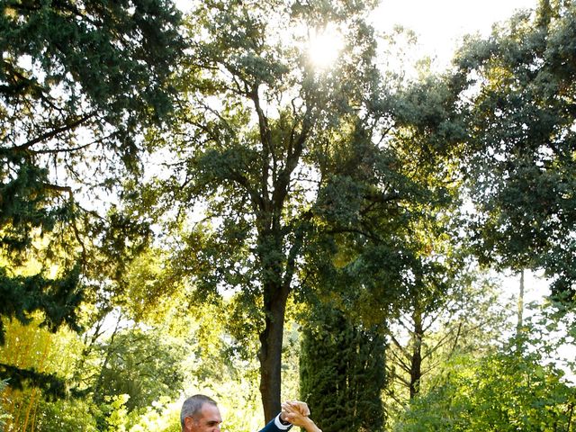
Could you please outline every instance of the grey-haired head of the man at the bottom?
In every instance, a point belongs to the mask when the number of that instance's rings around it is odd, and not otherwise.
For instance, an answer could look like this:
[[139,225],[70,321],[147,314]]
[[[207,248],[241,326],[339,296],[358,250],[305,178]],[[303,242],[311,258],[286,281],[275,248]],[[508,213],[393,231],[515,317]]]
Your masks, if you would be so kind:
[[184,401],[180,423],[184,432],[219,432],[220,410],[216,401],[203,394],[195,394]]

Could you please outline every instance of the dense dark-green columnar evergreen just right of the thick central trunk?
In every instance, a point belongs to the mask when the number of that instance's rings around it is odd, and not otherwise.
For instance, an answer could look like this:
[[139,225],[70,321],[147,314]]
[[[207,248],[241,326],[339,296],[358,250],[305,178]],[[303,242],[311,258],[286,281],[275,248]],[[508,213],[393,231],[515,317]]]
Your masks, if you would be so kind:
[[302,401],[321,419],[322,430],[382,430],[382,332],[351,322],[330,305],[308,317],[302,331]]

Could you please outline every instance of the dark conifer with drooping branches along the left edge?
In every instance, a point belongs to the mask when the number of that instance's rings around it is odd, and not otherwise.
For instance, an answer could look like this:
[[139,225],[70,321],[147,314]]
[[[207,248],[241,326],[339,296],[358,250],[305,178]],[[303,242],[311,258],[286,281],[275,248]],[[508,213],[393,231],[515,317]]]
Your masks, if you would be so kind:
[[[3,318],[41,311],[50,329],[79,329],[77,307],[95,297],[87,280],[113,277],[122,261],[112,251],[146,235],[136,220],[83,205],[94,191],[118,192],[122,167],[138,171],[139,135],[169,112],[178,23],[174,5],[155,0],[0,4]],[[26,275],[31,260],[40,270]],[[14,374],[7,367],[2,376]]]

